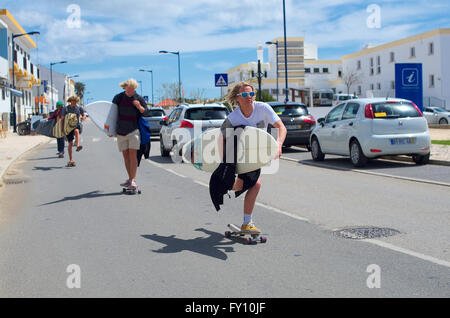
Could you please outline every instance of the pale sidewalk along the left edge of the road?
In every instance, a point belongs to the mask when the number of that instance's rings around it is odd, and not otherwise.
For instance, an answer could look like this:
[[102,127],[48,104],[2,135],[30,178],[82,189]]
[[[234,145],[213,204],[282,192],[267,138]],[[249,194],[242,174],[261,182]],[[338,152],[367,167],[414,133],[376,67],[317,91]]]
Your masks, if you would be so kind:
[[[19,136],[12,130],[6,133],[6,138],[0,138],[0,186],[3,184],[3,176],[11,164],[22,154],[52,138],[47,136]],[[56,149],[56,146],[55,146]]]

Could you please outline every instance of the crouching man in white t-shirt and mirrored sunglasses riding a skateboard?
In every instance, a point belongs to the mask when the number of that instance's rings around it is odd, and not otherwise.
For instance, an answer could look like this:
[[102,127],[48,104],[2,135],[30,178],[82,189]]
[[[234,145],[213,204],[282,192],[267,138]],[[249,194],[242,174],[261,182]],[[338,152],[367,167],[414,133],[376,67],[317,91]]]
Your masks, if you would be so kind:
[[[267,129],[267,126],[271,124],[274,128],[279,130],[277,140],[277,158],[279,158],[281,156],[284,139],[286,138],[286,127],[272,107],[263,102],[255,102],[253,86],[246,82],[236,84],[233,90],[228,94],[227,101],[231,106],[237,104],[238,107],[229,114],[228,118],[224,121],[221,128],[222,132],[224,132],[226,128],[241,125]],[[238,175],[232,188],[233,191],[236,191],[236,196],[247,191],[244,199],[244,223],[241,226],[241,230],[249,234],[261,233],[252,220],[256,197],[261,188],[261,179],[259,178],[260,171],[261,170],[258,169],[256,171]]]

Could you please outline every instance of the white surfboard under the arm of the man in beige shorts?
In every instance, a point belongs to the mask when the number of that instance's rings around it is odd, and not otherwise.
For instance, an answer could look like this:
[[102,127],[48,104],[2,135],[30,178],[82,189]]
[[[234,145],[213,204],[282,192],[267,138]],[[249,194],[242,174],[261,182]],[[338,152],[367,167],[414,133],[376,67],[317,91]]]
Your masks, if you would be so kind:
[[111,102],[98,101],[84,107],[89,114],[89,118],[94,124],[108,136],[116,135],[116,124],[118,109],[117,105]]

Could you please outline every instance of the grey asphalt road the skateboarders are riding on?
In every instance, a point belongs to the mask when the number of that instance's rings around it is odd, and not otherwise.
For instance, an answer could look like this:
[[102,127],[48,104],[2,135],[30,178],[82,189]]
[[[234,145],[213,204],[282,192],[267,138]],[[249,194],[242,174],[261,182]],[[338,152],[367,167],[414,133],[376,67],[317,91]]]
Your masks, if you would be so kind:
[[[55,158],[56,143],[11,167],[0,192],[1,297],[450,296],[448,187],[281,160],[263,175],[254,212],[268,242],[248,246],[223,236],[242,221],[242,200],[226,198],[217,213],[209,175],[161,158],[157,140],[136,196],[121,193],[113,139],[87,122],[83,146],[75,168]],[[354,226],[399,234],[333,232]],[[69,288],[78,273],[80,288]]]

